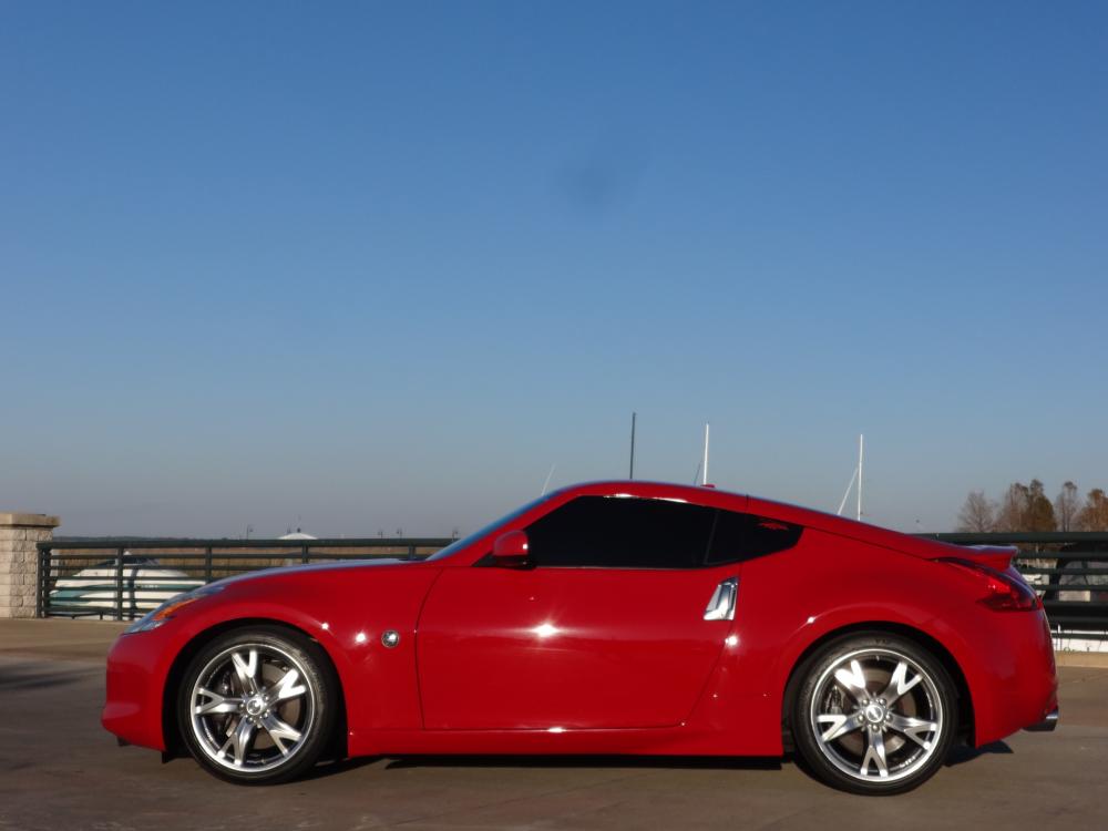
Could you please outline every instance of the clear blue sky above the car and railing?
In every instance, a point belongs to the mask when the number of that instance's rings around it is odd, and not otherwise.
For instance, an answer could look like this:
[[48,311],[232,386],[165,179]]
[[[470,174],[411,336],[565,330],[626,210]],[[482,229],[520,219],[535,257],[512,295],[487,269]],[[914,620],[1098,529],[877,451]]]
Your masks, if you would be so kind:
[[1108,6],[0,4],[0,509],[1108,485]]

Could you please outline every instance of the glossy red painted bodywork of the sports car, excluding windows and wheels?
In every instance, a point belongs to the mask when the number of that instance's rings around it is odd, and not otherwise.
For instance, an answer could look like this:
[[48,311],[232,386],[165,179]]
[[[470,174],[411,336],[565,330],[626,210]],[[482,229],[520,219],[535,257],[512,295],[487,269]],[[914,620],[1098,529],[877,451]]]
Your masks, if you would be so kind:
[[[578,496],[661,499],[803,527],[779,553],[695,570],[500,568],[494,540]],[[968,740],[995,741],[1055,709],[1042,609],[994,612],[956,546],[717,490],[602,482],[552,494],[412,563],[274,570],[225,583],[161,628],[121,636],[103,724],[161,750],[174,683],[197,644],[242,622],[317,639],[341,685],[351,756],[782,752],[782,709],[803,656],[835,633],[888,628],[944,655]],[[739,579],[733,619],[705,619]],[[381,635],[400,633],[394,648]]]

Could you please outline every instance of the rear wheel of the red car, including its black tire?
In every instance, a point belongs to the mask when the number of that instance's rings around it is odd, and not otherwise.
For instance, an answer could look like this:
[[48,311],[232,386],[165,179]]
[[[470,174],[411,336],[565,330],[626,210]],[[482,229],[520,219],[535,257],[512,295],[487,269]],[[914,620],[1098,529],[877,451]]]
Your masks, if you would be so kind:
[[801,761],[827,784],[903,793],[946,761],[958,730],[957,688],[914,640],[852,633],[823,646],[798,674],[789,724]]

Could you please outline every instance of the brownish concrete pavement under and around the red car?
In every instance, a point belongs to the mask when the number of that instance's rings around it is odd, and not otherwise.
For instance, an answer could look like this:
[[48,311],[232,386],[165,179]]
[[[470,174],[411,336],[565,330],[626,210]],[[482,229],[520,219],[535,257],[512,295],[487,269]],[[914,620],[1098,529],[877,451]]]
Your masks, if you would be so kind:
[[100,728],[119,624],[0,622],[0,829],[1087,829],[1108,824],[1108,669],[1063,667],[1061,725],[965,751],[891,799],[776,760],[355,760],[243,788]]

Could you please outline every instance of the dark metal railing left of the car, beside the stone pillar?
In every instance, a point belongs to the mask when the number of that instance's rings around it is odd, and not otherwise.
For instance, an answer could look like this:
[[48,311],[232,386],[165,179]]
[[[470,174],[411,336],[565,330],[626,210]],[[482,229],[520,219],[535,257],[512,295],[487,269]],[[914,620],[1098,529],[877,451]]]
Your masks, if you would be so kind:
[[39,543],[39,617],[142,617],[174,595],[235,574],[307,563],[422,560],[441,538],[65,540]]

